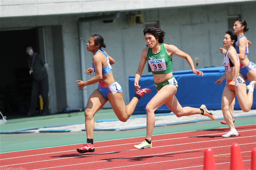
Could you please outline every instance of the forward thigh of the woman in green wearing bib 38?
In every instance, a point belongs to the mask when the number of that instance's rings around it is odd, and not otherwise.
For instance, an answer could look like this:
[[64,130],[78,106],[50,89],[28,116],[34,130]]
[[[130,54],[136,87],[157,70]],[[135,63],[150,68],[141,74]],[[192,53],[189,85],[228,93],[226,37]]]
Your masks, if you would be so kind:
[[157,108],[163,106],[166,103],[166,101],[173,98],[173,96],[175,95],[176,92],[177,92],[177,87],[165,85],[148,102],[148,106],[150,106],[155,111]]

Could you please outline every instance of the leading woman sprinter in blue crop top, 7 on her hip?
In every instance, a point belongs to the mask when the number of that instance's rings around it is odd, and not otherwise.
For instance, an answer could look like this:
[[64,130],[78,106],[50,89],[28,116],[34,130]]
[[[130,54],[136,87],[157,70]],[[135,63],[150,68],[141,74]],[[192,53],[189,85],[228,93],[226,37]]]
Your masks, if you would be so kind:
[[95,76],[85,82],[77,80],[79,90],[86,85],[99,82],[98,89],[94,90],[90,95],[84,111],[87,143],[83,147],[76,149],[79,153],[95,151],[93,146],[93,116],[107,101],[111,104],[117,118],[122,122],[126,122],[132,115],[140,98],[143,97],[145,93],[151,92],[148,88],[136,89],[135,96],[130,103],[125,106],[122,87],[113,77],[111,65],[115,63],[115,60],[108,56],[108,53],[103,51],[101,47],[106,48],[103,37],[98,34],[92,35],[87,43],[87,51],[92,52],[94,55],[92,58],[92,67],[87,69],[84,73],[92,75],[94,71]]

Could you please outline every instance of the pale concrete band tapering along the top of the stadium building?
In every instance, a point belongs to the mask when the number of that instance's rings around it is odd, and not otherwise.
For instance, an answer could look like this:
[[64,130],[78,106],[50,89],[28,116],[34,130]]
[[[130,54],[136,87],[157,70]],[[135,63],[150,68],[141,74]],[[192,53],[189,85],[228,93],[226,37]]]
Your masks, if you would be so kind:
[[168,7],[184,7],[194,5],[225,4],[248,2],[253,0],[205,0],[205,1],[180,1],[180,0],[161,0],[161,1],[138,1],[138,0],[1,0],[0,17],[17,16],[40,16],[40,15],[59,15],[59,14],[79,14],[90,12],[111,12],[111,11],[131,11]]

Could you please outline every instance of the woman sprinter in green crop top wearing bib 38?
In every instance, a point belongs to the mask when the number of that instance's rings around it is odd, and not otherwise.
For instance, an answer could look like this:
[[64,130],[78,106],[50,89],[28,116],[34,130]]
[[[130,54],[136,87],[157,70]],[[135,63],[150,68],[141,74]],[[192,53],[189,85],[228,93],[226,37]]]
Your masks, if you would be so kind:
[[134,86],[136,89],[140,88],[139,80],[144,66],[148,62],[152,69],[157,93],[146,106],[146,139],[141,144],[134,145],[136,149],[140,150],[152,147],[151,136],[156,122],[154,111],[164,104],[177,117],[202,114],[214,120],[214,116],[206,109],[204,105],[202,105],[200,108],[181,107],[180,103],[175,97],[175,93],[178,90],[178,82],[172,75],[172,55],[174,54],[186,59],[193,73],[198,76],[203,76],[202,71],[195,69],[191,57],[173,45],[164,44],[165,32],[160,28],[148,27],[145,28],[143,32],[148,47],[142,50],[139,68],[135,74]]

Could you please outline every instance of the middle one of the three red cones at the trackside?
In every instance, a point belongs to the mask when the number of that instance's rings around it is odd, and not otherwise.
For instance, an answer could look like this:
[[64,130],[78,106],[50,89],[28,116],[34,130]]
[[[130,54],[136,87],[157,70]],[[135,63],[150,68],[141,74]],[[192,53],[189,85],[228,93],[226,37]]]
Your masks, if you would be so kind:
[[231,145],[230,170],[244,170],[240,146],[237,143]]

